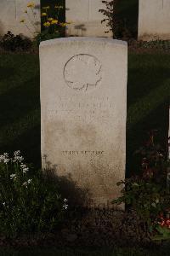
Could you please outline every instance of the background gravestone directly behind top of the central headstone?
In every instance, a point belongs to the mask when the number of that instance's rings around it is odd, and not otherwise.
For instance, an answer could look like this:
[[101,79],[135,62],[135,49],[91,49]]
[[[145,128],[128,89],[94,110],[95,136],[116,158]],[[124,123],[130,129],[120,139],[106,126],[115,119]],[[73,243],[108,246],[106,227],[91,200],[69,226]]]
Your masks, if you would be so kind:
[[67,36],[112,38],[106,23],[101,24],[105,16],[99,9],[105,9],[102,0],[65,0],[65,18],[71,24],[67,27]]

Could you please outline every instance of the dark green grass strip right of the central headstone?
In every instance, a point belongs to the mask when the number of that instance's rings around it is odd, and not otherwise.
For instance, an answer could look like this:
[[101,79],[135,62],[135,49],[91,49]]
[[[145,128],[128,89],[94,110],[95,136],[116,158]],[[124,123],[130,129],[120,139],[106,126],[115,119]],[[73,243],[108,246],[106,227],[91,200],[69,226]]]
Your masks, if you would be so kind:
[[127,83],[127,177],[139,172],[133,152],[144,145],[148,131],[167,146],[170,55],[130,55]]

